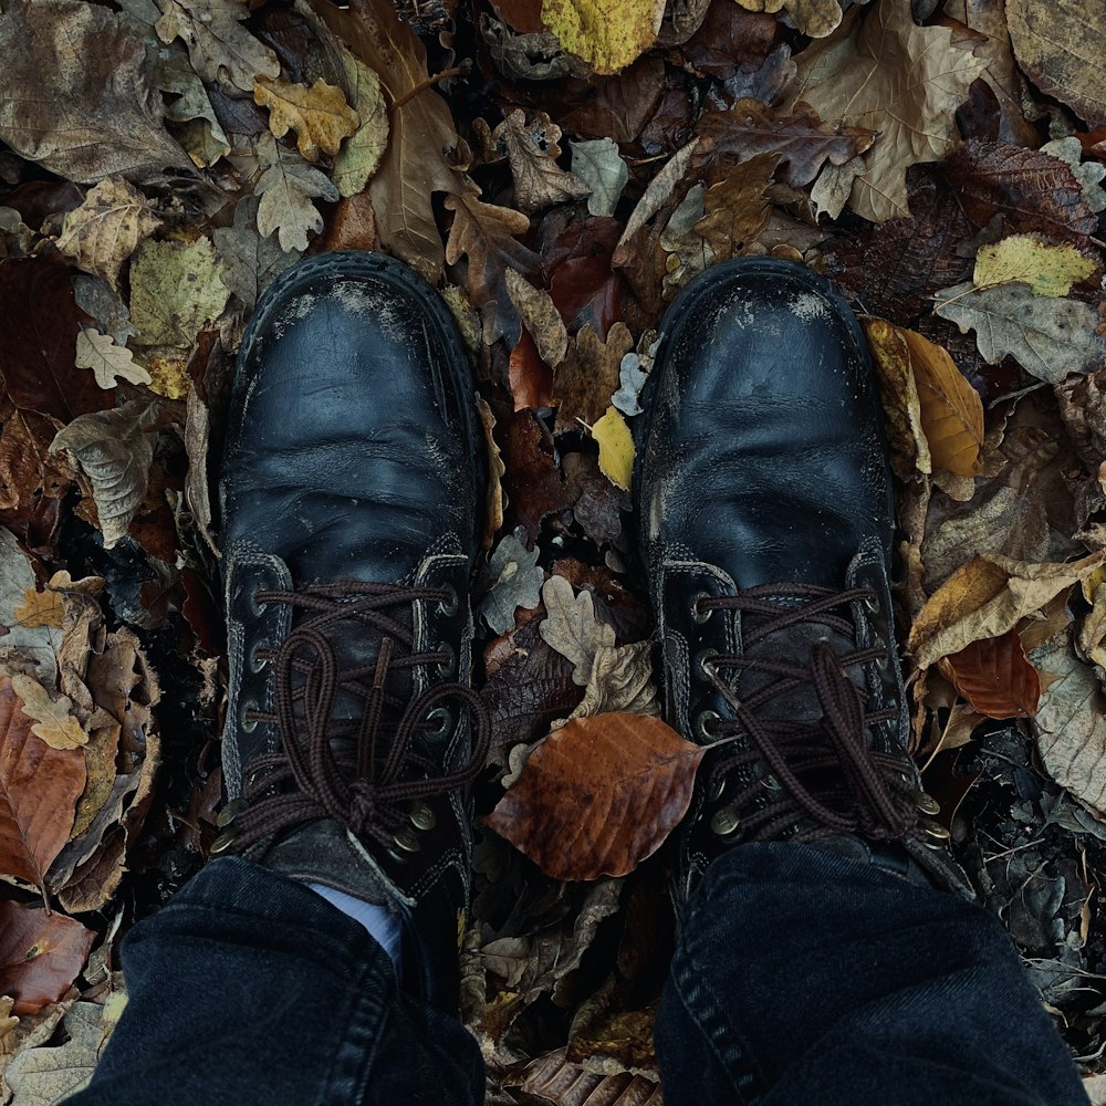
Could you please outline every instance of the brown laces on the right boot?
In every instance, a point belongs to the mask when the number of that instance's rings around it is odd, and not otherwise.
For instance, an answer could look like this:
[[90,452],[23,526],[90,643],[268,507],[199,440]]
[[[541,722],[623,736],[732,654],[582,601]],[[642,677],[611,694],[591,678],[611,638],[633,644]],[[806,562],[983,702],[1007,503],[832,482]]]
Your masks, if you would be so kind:
[[[874,592],[862,587],[835,591],[813,584],[771,584],[734,596],[701,597],[699,609],[742,612],[743,646],[750,650],[801,623],[852,640],[852,620],[835,614],[834,608],[874,598]],[[787,605],[781,605],[781,599]],[[897,711],[866,712],[867,693],[846,672],[846,668],[885,657],[880,646],[838,657],[823,639],[807,657],[793,661],[748,653],[709,659],[708,676],[733,710],[732,719],[717,719],[710,732],[734,742],[749,740],[730,755],[721,750],[708,786],[733,773],[749,781],[727,799],[741,814],[743,838],[811,841],[855,833],[869,841],[889,841],[905,837],[915,826],[918,811],[904,772],[906,754],[874,751],[867,742],[868,728],[895,718]],[[741,698],[719,677],[718,672],[727,669],[764,672],[775,679]],[[802,685],[813,685],[823,712],[820,723],[758,717],[769,700]]]

